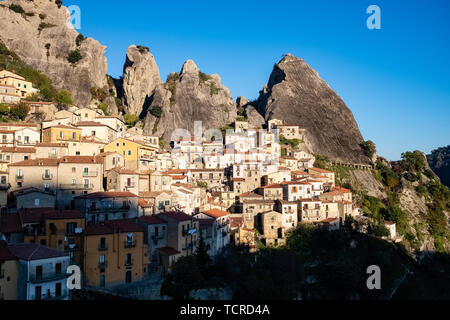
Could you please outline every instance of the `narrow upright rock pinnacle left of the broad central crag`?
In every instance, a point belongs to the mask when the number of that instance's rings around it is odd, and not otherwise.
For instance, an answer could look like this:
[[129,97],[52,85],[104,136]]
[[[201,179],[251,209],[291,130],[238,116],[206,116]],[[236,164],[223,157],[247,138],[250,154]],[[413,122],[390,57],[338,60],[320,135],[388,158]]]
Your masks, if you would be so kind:
[[161,84],[155,58],[146,47],[132,45],[123,67],[122,102],[124,111],[139,115],[156,86]]

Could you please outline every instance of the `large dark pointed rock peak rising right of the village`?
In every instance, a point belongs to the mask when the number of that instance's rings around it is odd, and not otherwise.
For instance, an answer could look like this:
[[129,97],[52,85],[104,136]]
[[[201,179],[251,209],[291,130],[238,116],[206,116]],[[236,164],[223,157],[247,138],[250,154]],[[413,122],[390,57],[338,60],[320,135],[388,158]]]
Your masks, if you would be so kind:
[[266,120],[281,119],[307,130],[312,151],[351,163],[368,163],[363,137],[350,109],[305,61],[287,54],[258,99]]

